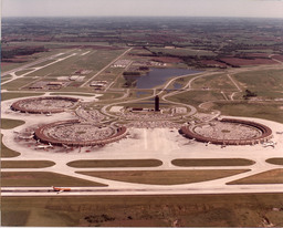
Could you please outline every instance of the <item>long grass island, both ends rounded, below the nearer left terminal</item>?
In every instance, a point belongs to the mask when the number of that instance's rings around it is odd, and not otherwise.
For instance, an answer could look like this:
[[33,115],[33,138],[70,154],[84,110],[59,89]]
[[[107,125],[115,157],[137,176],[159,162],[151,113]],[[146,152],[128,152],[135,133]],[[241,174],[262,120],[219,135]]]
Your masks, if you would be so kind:
[[158,159],[108,159],[108,160],[74,160],[67,163],[75,168],[104,168],[104,167],[158,167],[163,165]]

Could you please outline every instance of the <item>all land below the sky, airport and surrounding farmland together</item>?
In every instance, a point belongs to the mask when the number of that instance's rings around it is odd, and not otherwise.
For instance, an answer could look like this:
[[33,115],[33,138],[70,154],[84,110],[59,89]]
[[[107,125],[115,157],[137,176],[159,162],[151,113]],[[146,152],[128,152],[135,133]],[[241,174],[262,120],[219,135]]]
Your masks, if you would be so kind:
[[3,19],[1,225],[283,226],[282,24]]

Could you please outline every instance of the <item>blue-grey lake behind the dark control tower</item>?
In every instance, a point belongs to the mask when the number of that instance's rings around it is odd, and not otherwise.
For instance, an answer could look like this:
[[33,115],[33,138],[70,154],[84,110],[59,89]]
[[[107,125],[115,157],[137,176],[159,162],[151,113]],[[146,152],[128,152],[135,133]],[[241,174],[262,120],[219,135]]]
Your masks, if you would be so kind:
[[155,69],[137,79],[137,89],[153,89],[164,84],[168,79],[187,74],[199,73],[200,71],[189,69]]

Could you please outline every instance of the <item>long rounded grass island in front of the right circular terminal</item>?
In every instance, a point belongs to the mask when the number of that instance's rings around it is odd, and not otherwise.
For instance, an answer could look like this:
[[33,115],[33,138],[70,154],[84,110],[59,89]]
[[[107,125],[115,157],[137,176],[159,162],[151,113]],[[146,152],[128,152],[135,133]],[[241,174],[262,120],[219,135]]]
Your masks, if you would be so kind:
[[243,158],[200,158],[200,159],[174,159],[176,166],[249,166],[254,162]]

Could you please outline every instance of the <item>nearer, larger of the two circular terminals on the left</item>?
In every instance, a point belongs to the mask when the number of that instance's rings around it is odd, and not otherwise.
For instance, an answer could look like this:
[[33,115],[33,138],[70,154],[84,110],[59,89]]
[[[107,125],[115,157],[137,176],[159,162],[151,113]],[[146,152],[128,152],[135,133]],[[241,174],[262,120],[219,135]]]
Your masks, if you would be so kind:
[[34,132],[40,142],[56,146],[103,146],[122,139],[126,134],[124,126],[115,128],[78,121],[55,122]]

